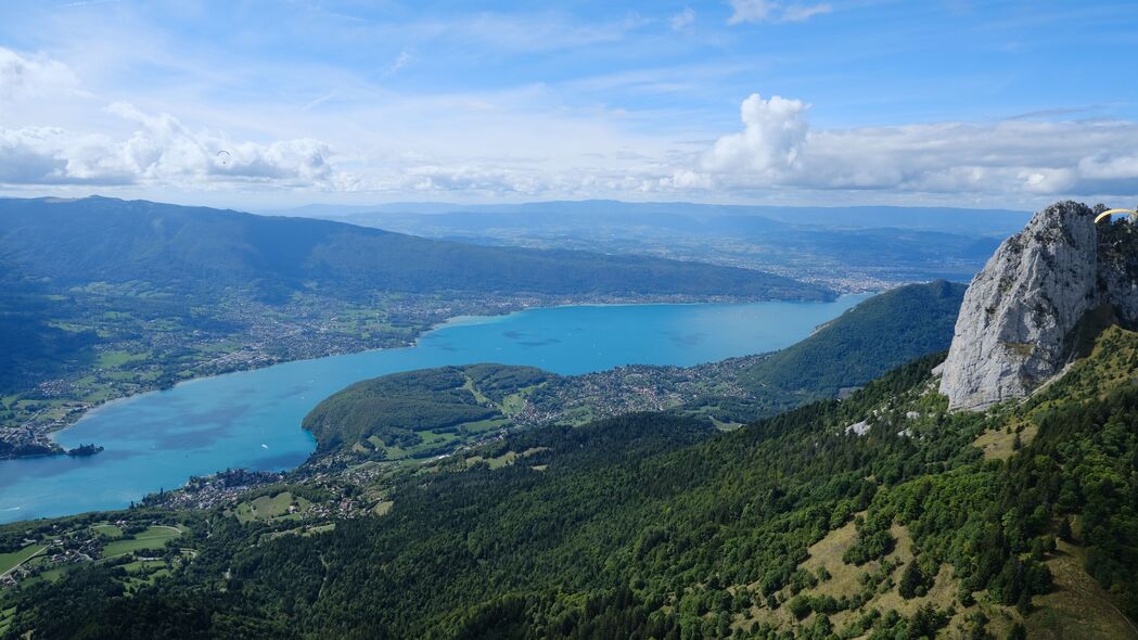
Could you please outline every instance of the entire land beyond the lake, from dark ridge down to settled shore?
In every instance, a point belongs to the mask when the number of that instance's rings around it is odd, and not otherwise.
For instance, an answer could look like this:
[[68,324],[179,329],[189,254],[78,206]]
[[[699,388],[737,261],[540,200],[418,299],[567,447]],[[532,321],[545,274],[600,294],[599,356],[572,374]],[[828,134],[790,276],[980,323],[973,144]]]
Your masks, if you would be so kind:
[[109,198],[2,199],[0,222],[0,458],[58,453],[51,432],[109,400],[406,346],[460,315],[835,295],[743,269]]

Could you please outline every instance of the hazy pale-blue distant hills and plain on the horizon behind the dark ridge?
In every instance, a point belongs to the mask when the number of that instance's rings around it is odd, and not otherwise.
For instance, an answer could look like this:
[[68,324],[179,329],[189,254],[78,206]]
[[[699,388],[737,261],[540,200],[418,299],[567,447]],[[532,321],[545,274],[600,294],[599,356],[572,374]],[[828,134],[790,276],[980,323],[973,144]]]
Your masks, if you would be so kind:
[[770,271],[841,290],[967,281],[1028,214],[998,210],[753,207],[585,200],[522,205],[306,207],[430,238],[654,255]]

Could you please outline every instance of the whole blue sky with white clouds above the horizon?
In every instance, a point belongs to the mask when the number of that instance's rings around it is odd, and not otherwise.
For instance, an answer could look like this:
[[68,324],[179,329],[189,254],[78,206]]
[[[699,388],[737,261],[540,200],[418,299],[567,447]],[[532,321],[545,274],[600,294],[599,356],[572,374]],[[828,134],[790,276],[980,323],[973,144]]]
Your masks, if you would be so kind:
[[6,0],[0,195],[1138,202],[1132,1]]

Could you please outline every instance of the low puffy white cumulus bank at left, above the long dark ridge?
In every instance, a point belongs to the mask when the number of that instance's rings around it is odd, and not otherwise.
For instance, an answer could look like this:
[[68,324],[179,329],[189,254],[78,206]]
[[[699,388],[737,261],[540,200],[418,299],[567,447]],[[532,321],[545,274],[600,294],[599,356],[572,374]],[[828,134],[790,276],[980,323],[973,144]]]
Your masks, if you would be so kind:
[[[330,150],[318,140],[233,141],[191,131],[170,114],[147,114],[122,102],[107,110],[135,124],[130,138],[59,128],[0,129],[0,183],[312,187],[332,178]],[[218,156],[221,151],[225,154]]]

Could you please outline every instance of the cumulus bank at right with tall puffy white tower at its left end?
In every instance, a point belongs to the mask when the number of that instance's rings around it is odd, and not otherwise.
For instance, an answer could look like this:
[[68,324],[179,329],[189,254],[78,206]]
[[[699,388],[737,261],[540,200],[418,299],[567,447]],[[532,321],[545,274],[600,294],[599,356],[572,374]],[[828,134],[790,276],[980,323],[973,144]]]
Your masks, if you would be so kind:
[[810,129],[807,105],[743,101],[743,130],[661,180],[668,188],[799,188],[920,192],[1138,192],[1138,123],[947,122]]

